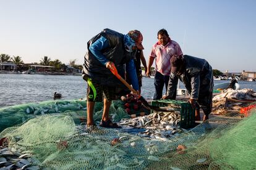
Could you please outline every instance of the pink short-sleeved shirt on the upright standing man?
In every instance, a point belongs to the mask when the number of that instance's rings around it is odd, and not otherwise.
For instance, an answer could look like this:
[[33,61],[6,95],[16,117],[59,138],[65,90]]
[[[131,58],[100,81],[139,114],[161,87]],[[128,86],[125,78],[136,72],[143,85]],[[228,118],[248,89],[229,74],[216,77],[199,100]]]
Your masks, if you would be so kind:
[[183,55],[181,47],[176,41],[170,40],[165,46],[160,42],[153,45],[150,57],[156,58],[156,71],[162,75],[168,76],[171,74],[171,57],[176,55]]

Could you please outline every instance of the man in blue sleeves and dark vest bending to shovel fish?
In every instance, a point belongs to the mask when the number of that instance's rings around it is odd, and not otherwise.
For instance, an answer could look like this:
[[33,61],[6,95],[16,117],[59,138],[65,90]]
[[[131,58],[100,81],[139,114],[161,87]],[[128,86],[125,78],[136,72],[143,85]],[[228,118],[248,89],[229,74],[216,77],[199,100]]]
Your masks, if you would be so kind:
[[[121,34],[108,28],[94,36],[87,42],[88,52],[83,64],[83,79],[87,81],[87,127],[93,126],[93,110],[95,102],[102,102],[104,94],[104,108],[101,127],[119,127],[109,118],[109,107],[117,95],[124,95],[127,89],[109,70],[115,65],[119,75],[124,78],[127,71],[132,75],[132,87],[139,91],[134,57],[137,49],[142,50],[142,34],[138,30]],[[126,70],[124,70],[124,67]]]

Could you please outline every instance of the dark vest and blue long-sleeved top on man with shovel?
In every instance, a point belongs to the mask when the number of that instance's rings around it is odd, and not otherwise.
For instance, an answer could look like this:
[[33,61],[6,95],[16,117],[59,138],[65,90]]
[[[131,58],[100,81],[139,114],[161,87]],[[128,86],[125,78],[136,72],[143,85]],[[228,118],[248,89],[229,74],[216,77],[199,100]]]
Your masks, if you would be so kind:
[[124,67],[133,75],[132,86],[139,89],[139,83],[134,66],[135,52],[127,52],[124,48],[124,34],[106,28],[87,42],[88,52],[83,64],[83,79],[91,78],[103,86],[121,87],[127,89],[111,71],[106,68],[108,61],[116,65],[119,75],[124,78]]

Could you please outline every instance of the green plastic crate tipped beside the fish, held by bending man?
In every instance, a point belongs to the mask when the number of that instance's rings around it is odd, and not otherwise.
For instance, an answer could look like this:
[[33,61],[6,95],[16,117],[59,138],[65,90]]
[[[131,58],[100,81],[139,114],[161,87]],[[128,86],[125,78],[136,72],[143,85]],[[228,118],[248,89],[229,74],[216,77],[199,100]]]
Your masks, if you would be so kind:
[[[170,104],[176,104],[181,107],[181,127],[189,129],[195,126],[195,109],[191,107],[190,103],[181,100],[153,100],[151,105],[158,107],[166,107]],[[153,111],[151,110],[151,113]]]

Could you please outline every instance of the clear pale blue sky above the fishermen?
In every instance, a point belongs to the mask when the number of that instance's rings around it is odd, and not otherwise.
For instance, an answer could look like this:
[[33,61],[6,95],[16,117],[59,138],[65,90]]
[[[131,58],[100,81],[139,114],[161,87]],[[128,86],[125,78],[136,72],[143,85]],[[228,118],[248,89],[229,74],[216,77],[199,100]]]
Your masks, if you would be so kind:
[[0,0],[0,7],[0,54],[19,55],[25,63],[47,55],[82,64],[86,42],[104,28],[140,30],[148,62],[165,28],[184,54],[215,69],[256,71],[254,0]]

